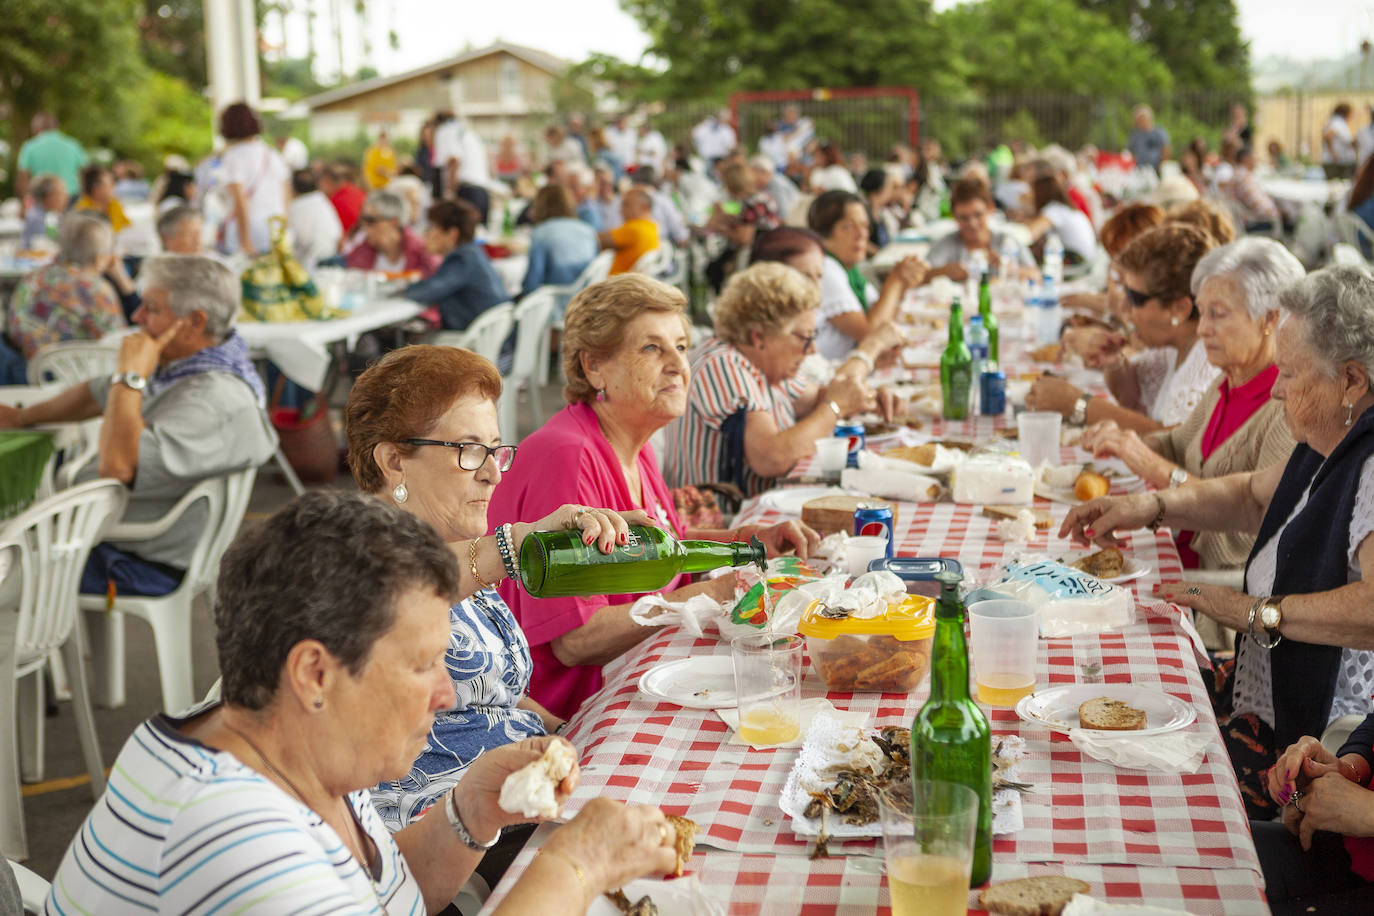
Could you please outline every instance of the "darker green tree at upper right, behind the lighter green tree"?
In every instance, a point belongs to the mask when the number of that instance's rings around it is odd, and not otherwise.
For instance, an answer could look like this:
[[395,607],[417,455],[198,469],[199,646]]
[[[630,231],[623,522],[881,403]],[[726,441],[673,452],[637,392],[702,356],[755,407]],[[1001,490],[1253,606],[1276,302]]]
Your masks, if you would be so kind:
[[1149,44],[1179,89],[1226,89],[1250,98],[1250,45],[1235,0],[1079,0]]

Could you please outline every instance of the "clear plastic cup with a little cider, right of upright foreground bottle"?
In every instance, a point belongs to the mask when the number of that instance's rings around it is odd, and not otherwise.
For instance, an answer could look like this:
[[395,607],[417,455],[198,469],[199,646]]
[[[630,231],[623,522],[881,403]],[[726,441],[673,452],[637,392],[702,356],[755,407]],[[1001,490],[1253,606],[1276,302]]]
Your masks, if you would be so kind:
[[1026,602],[993,599],[969,606],[978,702],[1015,706],[1035,692],[1040,615]]

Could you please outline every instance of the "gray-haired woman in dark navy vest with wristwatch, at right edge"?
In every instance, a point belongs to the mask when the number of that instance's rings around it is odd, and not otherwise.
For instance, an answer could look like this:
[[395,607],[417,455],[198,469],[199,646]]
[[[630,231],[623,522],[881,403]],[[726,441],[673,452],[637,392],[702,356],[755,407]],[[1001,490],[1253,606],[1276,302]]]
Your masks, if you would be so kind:
[[[1204,283],[1204,290],[1216,280]],[[1298,445],[1286,463],[1184,486],[1092,500],[1061,536],[1120,544],[1114,531],[1168,525],[1254,537],[1245,592],[1178,582],[1157,593],[1241,633],[1234,678],[1213,705],[1250,817],[1278,813],[1275,751],[1367,713],[1374,688],[1374,273],[1333,266],[1286,287],[1274,336],[1272,398]],[[1200,301],[1201,304],[1201,301]]]

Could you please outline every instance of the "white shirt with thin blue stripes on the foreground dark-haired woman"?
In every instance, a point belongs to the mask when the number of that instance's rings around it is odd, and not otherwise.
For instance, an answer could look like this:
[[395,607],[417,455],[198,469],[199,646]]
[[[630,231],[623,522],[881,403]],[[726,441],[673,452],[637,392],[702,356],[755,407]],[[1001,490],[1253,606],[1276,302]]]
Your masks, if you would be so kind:
[[180,735],[183,721],[154,715],[125,743],[44,913],[425,913],[367,791],[348,802],[376,845],[375,875],[313,810]]

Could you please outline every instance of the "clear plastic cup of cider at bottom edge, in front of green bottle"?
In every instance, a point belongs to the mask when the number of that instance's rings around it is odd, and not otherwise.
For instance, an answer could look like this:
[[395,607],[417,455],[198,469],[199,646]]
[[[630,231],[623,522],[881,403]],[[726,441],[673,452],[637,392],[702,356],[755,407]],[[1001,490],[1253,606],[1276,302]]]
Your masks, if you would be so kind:
[[900,781],[878,792],[882,858],[893,916],[963,916],[978,794],[944,781]]

